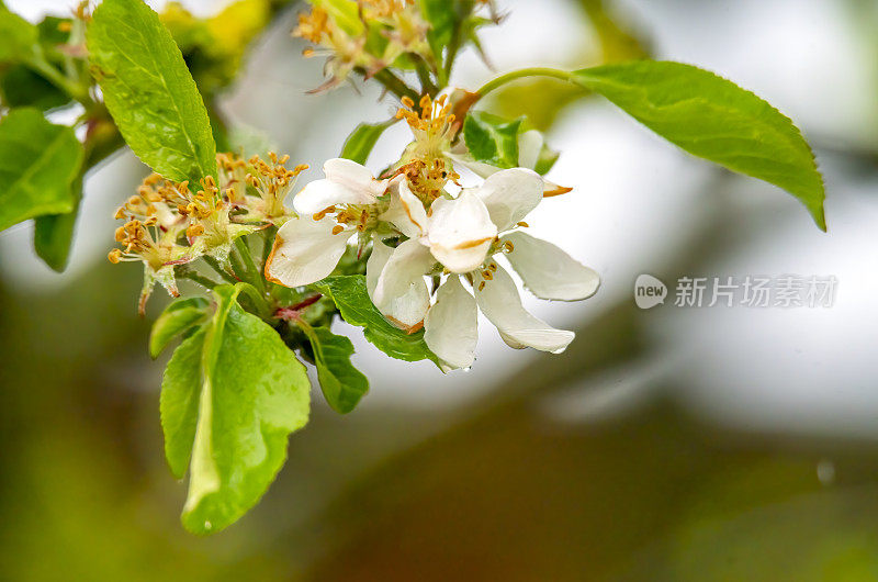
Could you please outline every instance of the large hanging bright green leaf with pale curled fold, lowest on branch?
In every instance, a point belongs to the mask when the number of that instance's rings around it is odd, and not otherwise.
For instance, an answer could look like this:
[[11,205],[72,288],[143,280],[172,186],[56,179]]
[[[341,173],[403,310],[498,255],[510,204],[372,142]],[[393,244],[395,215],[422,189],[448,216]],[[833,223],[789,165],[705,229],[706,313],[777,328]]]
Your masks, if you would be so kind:
[[308,417],[305,367],[238,305],[243,290],[213,290],[213,317],[175,350],[161,387],[165,450],[176,475],[189,465],[182,522],[196,534],[223,529],[259,501]]

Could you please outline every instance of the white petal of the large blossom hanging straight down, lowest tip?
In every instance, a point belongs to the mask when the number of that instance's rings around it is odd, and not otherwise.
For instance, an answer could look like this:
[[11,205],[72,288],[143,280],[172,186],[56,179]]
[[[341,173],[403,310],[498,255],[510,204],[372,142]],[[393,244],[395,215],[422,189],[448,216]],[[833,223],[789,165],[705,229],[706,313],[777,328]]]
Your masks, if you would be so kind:
[[466,368],[475,359],[479,339],[475,299],[452,275],[436,293],[436,304],[424,318],[424,340],[451,368]]

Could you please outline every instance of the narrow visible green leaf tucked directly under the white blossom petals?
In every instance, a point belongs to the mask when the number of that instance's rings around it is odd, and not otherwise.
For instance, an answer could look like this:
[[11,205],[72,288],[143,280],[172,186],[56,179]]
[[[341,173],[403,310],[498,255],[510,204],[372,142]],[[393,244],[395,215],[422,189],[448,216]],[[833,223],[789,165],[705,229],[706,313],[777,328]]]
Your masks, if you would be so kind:
[[432,360],[438,365],[439,359],[424,342],[424,331],[406,334],[378,311],[369,299],[362,275],[327,277],[314,287],[333,298],[341,317],[362,327],[365,338],[387,356],[405,361]]

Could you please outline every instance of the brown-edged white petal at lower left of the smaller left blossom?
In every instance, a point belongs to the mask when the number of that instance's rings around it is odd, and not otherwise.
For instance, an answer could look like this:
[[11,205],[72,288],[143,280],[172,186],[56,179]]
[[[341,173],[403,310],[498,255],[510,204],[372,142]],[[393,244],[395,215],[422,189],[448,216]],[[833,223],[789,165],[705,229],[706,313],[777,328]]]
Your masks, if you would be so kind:
[[329,219],[291,219],[278,231],[266,262],[266,279],[300,287],[329,276],[348,246],[350,232],[333,234]]

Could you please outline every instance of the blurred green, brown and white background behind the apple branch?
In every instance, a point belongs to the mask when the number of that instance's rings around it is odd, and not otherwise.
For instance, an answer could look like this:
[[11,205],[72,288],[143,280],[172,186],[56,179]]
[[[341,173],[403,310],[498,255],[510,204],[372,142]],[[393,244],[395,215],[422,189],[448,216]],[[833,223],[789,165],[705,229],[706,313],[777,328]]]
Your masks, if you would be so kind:
[[[8,0],[36,19],[75,2]],[[150,2],[160,8],[162,2]],[[225,2],[185,2],[200,14]],[[551,81],[496,105],[528,114],[575,186],[537,234],[595,267],[574,304],[526,302],[577,329],[561,356],[485,325],[480,361],[442,376],[387,361],[349,329],[371,393],[312,421],[262,502],[185,534],[167,470],[164,360],[136,316],[140,270],[105,261],[112,209],[145,176],[130,153],[93,172],[68,271],[0,236],[0,579],[878,580],[878,5],[871,0],[500,1],[495,70],[652,55],[698,64],[790,115],[828,182],[829,234],[791,197],[687,157]],[[320,64],[289,35],[251,48],[222,107],[243,138],[319,168],[393,103],[371,88],[306,96]],[[464,55],[453,82],[492,76]],[[397,131],[398,130],[398,131]],[[394,127],[374,167],[406,142]],[[318,172],[312,170],[303,179]],[[640,311],[638,275],[833,275],[821,310]],[[338,326],[344,329],[342,325]]]

